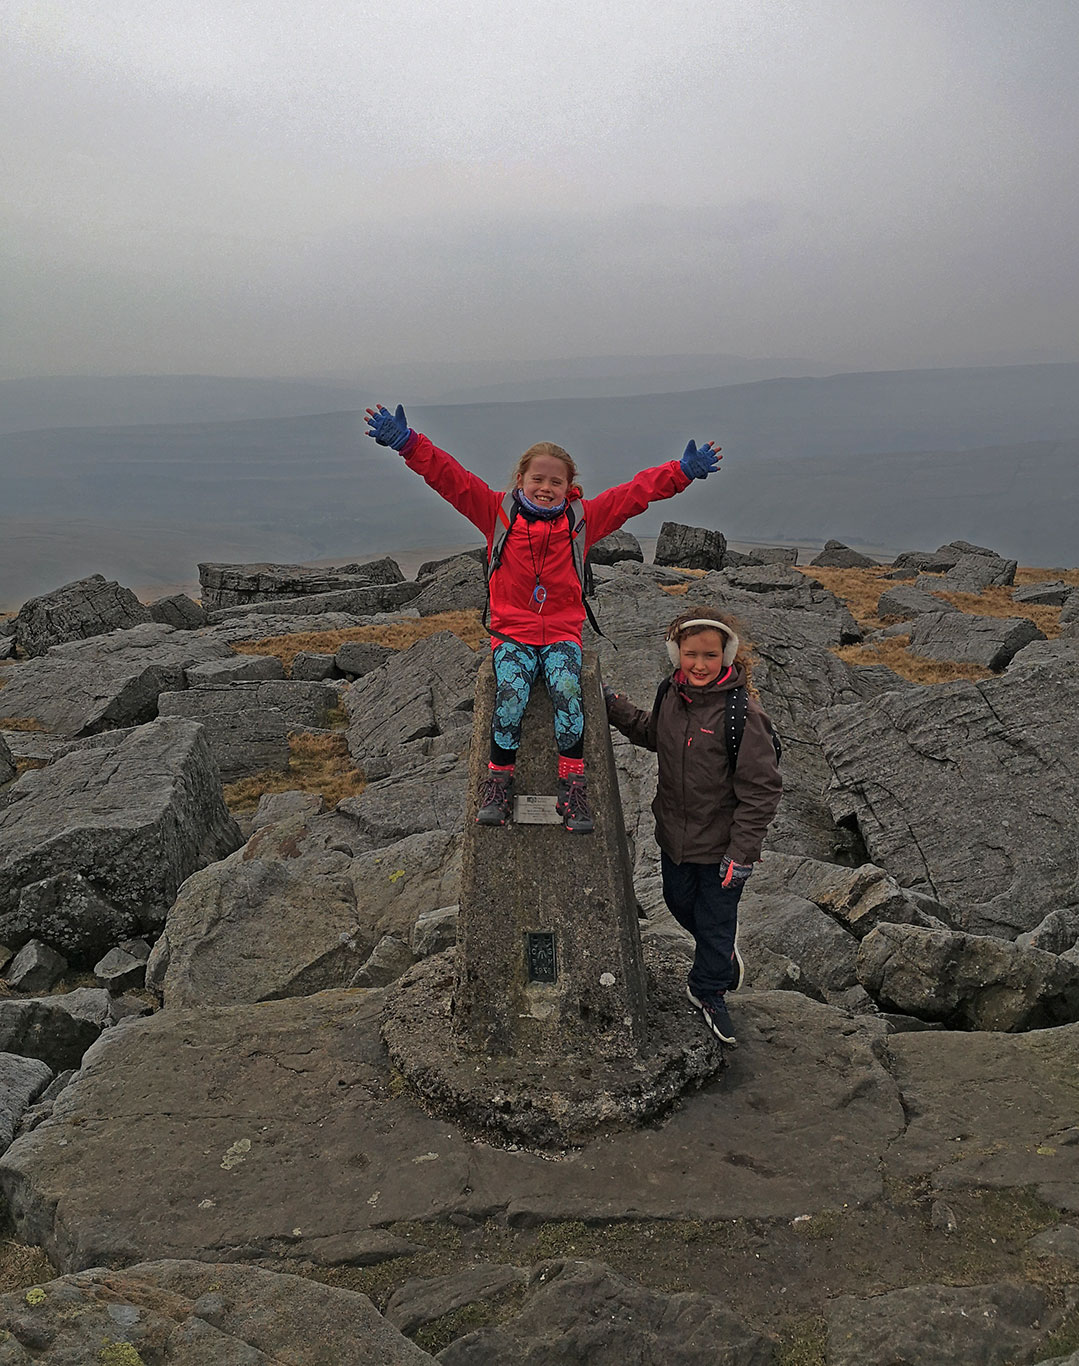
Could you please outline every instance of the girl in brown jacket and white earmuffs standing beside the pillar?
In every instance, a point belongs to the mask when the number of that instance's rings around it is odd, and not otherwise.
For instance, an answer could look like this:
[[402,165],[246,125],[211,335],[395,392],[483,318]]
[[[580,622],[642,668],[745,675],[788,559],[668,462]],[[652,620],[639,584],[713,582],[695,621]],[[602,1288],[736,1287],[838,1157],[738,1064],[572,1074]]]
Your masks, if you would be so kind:
[[[671,623],[675,672],[651,712],[604,690],[611,724],[660,761],[651,810],[664,900],[697,944],[686,994],[724,1044],[735,1042],[725,993],[743,977],[738,903],[783,792],[772,723],[750,688],[748,649],[735,626],[705,608]],[[724,727],[735,688],[746,690],[747,712],[732,769]]]

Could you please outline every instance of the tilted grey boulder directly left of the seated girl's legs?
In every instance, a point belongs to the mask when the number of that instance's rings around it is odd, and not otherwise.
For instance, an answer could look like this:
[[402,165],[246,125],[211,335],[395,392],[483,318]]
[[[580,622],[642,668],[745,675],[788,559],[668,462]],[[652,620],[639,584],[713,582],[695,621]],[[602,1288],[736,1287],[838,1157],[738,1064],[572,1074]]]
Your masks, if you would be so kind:
[[482,656],[449,631],[400,650],[344,694],[348,753],[362,768],[400,755],[415,740],[462,732],[467,744],[475,673]]

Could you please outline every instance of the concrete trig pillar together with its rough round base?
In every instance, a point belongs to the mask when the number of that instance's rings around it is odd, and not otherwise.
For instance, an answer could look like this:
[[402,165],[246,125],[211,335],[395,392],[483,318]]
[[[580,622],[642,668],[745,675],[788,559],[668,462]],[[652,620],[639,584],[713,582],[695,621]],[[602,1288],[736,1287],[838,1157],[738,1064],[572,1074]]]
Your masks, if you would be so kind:
[[[533,688],[518,753],[524,821],[475,824],[494,675],[475,693],[458,945],[388,994],[391,1057],[440,1112],[530,1146],[642,1123],[723,1067],[694,1020],[686,960],[642,956],[617,776],[595,657],[585,657],[593,835],[544,820],[557,790],[552,706]],[[537,800],[538,799],[538,800]],[[529,820],[538,816],[540,820]]]

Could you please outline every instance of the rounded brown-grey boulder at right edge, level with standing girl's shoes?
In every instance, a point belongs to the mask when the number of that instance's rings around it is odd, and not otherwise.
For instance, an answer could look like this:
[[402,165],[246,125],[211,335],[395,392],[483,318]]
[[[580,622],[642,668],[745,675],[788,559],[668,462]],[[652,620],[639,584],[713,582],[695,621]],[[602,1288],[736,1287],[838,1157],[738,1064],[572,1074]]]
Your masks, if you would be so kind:
[[858,978],[886,1009],[951,1029],[1027,1030],[1079,1020],[1079,967],[982,934],[878,925]]

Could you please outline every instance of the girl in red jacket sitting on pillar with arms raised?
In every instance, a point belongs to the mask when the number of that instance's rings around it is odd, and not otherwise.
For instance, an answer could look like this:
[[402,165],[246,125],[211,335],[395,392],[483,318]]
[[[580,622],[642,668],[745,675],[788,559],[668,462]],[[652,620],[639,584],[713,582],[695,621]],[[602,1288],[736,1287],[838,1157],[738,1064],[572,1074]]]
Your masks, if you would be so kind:
[[[530,447],[514,473],[512,503],[470,474],[452,455],[408,426],[404,408],[367,408],[367,436],[404,456],[436,493],[486,537],[488,559],[501,525],[508,533],[490,570],[490,632],[494,652],[494,716],[490,761],[479,794],[481,825],[505,825],[514,802],[514,766],[529,694],[542,672],[555,708],[559,746],[557,811],[574,835],[593,831],[585,783],[585,713],[580,705],[582,583],[574,561],[574,537],[583,552],[660,499],[669,499],[718,469],[720,449],[690,441],[680,460],[645,470],[628,484],[580,503],[576,466],[560,445]],[[582,557],[583,559],[583,557]]]

